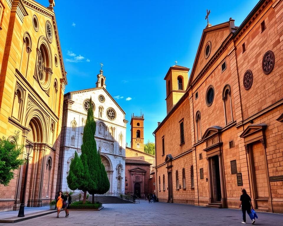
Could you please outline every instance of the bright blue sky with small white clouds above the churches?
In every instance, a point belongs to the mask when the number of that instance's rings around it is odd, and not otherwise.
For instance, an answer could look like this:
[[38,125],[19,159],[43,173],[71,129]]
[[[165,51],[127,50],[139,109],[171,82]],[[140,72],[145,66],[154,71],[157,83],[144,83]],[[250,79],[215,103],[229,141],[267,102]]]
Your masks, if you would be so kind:
[[175,60],[192,68],[206,9],[210,24],[232,17],[239,26],[257,2],[57,0],[54,11],[68,72],[65,92],[95,87],[102,62],[106,89],[129,120],[126,142],[130,145],[131,114],[141,111],[144,140],[154,142],[152,132],[166,116],[164,76]]

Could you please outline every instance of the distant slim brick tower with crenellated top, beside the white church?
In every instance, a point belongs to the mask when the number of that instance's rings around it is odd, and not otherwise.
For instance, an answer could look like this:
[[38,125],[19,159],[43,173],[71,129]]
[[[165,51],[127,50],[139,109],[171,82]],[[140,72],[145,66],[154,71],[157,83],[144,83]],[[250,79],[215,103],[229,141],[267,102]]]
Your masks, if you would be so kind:
[[144,115],[131,116],[131,148],[144,152]]

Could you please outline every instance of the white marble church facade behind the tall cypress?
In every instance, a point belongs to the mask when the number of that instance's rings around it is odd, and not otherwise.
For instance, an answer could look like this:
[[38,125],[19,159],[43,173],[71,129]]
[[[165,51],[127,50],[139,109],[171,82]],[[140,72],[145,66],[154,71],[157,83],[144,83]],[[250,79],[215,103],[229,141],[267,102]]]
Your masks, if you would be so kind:
[[[83,129],[89,104],[96,121],[96,145],[110,182],[108,195],[124,193],[125,187],[125,112],[106,90],[106,77],[101,68],[96,87],[68,92],[64,95],[63,121],[57,190],[70,191],[67,176],[75,152],[81,154]],[[91,100],[90,100],[91,98]]]

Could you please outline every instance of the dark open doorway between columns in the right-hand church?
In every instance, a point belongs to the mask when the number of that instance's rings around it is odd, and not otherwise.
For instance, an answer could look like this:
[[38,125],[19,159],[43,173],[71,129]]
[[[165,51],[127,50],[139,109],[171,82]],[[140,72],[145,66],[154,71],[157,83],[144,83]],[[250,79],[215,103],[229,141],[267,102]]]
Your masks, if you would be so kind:
[[219,157],[218,155],[215,155],[211,159],[212,159],[212,178],[213,178],[213,199],[215,202],[221,202]]

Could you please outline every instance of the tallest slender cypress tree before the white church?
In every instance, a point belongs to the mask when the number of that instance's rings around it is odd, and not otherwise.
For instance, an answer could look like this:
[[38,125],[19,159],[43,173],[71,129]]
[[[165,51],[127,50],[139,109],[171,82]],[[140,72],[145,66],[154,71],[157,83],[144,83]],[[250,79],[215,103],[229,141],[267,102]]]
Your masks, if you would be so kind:
[[[91,103],[92,102],[90,99],[88,116],[86,119],[85,127],[83,129],[83,144],[81,145],[81,157],[83,154],[85,154],[86,156],[85,164],[88,167],[90,175],[87,190],[90,194],[92,194],[92,201],[94,203],[94,194],[97,193],[98,185],[100,185],[101,183],[101,173],[99,166],[100,156],[97,152],[96,141],[94,139],[96,131],[96,122],[93,117],[93,107]],[[83,164],[85,160],[82,159]]]

